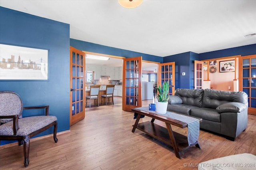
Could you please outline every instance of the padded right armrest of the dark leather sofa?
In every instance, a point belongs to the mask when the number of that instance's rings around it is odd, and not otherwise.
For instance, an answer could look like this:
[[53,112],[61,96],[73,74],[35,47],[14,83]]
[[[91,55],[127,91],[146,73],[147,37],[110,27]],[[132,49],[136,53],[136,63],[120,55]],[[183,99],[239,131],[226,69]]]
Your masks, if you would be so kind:
[[238,103],[238,102],[229,102],[229,103],[224,103],[216,108],[218,113],[223,113],[223,112],[232,112],[232,113],[239,113],[247,109],[247,106],[244,105],[243,103]]

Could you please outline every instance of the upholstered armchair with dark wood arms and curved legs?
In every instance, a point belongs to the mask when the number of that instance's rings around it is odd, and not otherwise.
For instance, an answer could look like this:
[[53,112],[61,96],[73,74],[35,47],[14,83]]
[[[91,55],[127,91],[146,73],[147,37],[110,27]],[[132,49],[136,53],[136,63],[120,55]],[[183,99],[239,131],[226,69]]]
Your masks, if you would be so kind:
[[[23,109],[45,109],[45,115],[22,118]],[[29,164],[30,138],[52,126],[53,139],[57,142],[57,117],[49,115],[49,106],[23,107],[17,93],[0,91],[0,141],[18,140],[19,145],[23,144],[25,167]]]

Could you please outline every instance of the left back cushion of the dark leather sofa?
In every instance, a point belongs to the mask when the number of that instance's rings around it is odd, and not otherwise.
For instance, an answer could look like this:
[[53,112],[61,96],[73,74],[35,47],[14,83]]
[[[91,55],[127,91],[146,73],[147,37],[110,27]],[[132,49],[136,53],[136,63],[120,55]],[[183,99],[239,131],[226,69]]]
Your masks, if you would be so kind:
[[174,95],[179,96],[185,105],[201,107],[203,93],[203,89],[176,89]]

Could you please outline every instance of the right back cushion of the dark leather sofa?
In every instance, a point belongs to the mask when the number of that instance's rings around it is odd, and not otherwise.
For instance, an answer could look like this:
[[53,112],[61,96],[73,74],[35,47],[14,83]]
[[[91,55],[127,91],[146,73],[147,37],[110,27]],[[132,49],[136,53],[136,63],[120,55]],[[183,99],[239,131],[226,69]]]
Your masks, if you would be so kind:
[[218,106],[229,102],[243,103],[248,106],[248,96],[243,91],[204,89],[202,107],[216,109]]

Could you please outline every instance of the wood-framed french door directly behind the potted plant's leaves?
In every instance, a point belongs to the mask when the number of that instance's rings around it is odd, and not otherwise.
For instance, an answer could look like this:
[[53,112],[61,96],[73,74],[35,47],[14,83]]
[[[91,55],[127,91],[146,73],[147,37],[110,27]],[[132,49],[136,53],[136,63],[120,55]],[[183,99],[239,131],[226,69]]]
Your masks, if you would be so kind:
[[175,62],[160,63],[158,69],[158,85],[169,82],[169,95],[174,95],[175,91]]

